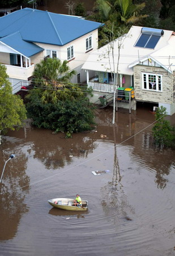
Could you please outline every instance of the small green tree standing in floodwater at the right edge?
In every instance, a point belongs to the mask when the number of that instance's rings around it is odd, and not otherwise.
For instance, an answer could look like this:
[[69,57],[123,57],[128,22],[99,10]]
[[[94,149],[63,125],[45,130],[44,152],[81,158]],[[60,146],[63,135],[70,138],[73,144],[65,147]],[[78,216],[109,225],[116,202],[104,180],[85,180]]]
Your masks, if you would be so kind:
[[175,148],[175,129],[170,125],[170,122],[165,120],[167,115],[166,108],[161,106],[155,114],[156,123],[152,128],[153,139],[159,147]]

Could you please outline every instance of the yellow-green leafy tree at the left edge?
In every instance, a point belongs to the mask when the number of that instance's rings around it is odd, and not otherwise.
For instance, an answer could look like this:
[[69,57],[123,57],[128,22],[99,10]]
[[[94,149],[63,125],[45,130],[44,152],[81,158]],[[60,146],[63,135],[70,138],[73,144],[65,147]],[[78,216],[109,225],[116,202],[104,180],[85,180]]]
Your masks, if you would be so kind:
[[12,94],[7,77],[5,65],[0,64],[0,134],[5,133],[7,129],[15,130],[14,126],[22,126],[26,118],[23,100]]

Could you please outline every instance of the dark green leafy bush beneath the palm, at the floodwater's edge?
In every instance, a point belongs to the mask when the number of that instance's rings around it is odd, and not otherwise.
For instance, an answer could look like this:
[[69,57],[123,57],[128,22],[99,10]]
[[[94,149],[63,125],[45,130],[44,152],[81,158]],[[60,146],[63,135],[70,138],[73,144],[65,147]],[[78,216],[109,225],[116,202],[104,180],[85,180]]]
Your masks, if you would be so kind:
[[85,97],[44,104],[39,90],[32,90],[31,95],[27,104],[28,117],[39,128],[66,132],[68,138],[72,133],[90,130],[94,124],[93,106]]

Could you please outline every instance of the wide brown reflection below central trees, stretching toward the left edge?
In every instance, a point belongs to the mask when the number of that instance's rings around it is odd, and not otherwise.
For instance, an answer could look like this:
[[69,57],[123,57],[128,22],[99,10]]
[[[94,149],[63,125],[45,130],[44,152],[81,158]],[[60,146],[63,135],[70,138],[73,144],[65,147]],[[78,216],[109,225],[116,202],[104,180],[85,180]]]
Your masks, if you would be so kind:
[[[71,164],[72,156],[87,158],[89,152],[93,152],[97,147],[96,138],[86,137],[86,133],[83,133],[84,136],[74,134],[74,141],[65,139],[63,133],[52,134],[52,131],[31,127],[10,131],[8,135],[16,136],[18,138],[16,143],[28,145],[28,156],[39,159],[48,170],[63,168],[65,164]],[[6,138],[3,137],[4,140]]]

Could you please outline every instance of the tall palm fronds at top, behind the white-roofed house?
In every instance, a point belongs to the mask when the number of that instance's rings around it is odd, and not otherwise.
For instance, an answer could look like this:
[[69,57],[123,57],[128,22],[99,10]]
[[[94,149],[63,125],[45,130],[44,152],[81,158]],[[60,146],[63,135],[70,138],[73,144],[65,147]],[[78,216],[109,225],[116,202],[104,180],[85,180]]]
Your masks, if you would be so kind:
[[110,36],[113,30],[113,39],[117,38],[119,30],[129,31],[133,24],[137,24],[147,14],[142,14],[145,3],[134,4],[132,0],[97,0],[92,15],[88,19],[96,22],[105,23],[104,27],[99,29],[99,47],[104,46],[105,37]]

